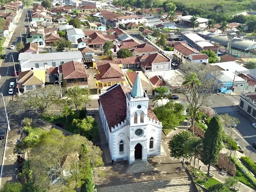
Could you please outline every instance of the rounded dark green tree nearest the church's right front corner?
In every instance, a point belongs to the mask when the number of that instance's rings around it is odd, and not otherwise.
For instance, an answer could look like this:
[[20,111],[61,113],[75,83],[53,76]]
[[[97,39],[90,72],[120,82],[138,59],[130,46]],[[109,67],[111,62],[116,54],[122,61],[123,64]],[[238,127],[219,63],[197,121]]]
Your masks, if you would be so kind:
[[184,146],[189,137],[190,133],[185,130],[175,134],[169,141],[170,156],[175,158],[183,157],[184,162],[184,158],[187,157],[187,154],[184,151]]

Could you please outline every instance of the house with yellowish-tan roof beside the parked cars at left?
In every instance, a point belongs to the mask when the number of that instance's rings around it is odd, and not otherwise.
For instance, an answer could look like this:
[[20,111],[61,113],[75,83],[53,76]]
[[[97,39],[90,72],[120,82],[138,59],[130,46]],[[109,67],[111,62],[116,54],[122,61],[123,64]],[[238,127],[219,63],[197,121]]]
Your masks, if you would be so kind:
[[32,89],[42,88],[44,83],[45,72],[43,70],[26,70],[19,72],[16,87],[18,93],[23,93]]

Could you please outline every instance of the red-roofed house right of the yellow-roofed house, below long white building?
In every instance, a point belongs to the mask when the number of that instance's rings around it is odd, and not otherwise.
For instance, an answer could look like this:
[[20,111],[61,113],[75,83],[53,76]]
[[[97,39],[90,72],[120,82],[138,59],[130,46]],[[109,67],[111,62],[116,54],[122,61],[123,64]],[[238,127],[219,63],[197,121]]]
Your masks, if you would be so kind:
[[73,85],[88,87],[87,78],[89,75],[86,73],[82,62],[71,60],[59,65],[58,70],[64,87]]

